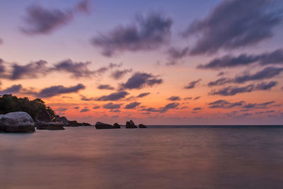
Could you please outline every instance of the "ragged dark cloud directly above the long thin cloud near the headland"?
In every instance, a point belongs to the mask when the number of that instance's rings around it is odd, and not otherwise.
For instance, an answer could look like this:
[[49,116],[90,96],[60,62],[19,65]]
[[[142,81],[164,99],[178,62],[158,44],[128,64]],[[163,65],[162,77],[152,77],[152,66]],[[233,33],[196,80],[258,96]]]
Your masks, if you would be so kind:
[[71,59],[66,59],[62,62],[54,64],[50,71],[64,71],[70,73],[73,78],[91,78],[95,71],[88,69],[91,62],[73,62]]

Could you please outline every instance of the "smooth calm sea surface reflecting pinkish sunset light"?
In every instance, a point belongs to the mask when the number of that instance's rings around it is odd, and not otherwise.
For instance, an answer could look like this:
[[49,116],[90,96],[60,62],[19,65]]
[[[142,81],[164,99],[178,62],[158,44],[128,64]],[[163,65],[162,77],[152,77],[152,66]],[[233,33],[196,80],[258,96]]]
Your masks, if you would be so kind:
[[282,128],[0,133],[0,188],[283,188]]

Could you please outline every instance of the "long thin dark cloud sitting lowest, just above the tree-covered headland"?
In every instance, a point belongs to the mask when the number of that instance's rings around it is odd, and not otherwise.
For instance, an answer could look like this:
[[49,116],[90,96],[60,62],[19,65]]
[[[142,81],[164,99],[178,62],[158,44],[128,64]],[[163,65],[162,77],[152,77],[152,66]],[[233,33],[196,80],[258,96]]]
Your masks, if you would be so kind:
[[35,96],[39,98],[49,98],[52,96],[57,96],[64,93],[76,93],[81,89],[86,88],[83,84],[77,84],[76,86],[50,86],[42,89],[39,93],[35,93]]

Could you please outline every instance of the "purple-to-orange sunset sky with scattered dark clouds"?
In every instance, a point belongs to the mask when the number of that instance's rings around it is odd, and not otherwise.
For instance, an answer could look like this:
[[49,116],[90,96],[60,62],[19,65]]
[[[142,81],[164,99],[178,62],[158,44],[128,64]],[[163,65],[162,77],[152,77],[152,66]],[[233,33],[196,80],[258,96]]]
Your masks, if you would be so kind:
[[0,0],[0,18],[0,95],[91,124],[282,124],[282,1]]

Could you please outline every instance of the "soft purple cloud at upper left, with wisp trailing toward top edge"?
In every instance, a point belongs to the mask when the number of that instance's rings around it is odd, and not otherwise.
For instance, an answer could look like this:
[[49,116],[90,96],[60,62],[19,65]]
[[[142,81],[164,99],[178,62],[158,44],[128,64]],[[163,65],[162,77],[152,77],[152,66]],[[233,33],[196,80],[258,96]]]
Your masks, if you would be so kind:
[[21,28],[28,35],[50,34],[57,28],[67,25],[74,18],[75,11],[87,12],[87,1],[81,1],[74,10],[61,11],[59,9],[46,9],[33,5],[27,8],[24,18],[25,27]]

